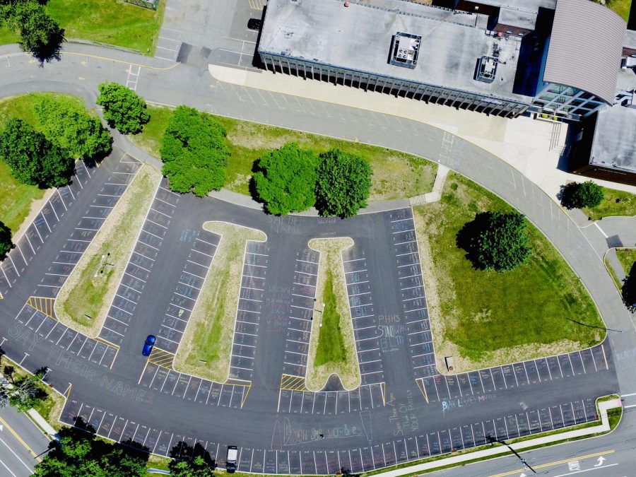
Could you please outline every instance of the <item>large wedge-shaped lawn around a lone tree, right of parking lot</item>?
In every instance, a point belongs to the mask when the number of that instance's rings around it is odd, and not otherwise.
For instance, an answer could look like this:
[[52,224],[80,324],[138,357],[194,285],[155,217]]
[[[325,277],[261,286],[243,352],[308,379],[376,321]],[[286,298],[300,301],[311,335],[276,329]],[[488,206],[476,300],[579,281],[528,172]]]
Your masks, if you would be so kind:
[[440,202],[414,208],[437,359],[454,356],[464,372],[599,343],[605,331],[594,302],[533,225],[532,254],[519,269],[472,268],[457,232],[487,210],[511,207],[453,172]]

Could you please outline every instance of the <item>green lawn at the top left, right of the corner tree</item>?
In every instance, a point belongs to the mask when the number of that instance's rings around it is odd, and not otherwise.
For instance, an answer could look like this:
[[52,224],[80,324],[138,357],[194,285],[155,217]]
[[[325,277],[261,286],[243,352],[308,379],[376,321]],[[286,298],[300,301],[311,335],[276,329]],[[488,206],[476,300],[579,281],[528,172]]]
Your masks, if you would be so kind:
[[49,0],[47,10],[59,21],[67,38],[81,38],[136,49],[153,56],[165,1],[157,11],[124,0]]

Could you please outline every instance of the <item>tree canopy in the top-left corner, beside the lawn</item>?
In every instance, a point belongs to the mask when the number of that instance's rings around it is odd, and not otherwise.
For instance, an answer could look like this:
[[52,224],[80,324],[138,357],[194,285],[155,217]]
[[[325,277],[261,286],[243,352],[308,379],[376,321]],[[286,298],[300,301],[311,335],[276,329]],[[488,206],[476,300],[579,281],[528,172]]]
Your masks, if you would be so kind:
[[57,57],[64,29],[49,16],[46,1],[0,0],[0,26],[20,30],[20,47],[41,60]]

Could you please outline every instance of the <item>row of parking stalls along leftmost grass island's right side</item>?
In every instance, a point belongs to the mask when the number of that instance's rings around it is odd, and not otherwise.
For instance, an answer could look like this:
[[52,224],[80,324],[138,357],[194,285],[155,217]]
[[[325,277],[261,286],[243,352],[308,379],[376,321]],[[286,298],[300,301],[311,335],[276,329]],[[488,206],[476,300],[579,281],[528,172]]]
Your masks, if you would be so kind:
[[117,345],[124,340],[178,202],[162,178],[100,331],[102,339]]

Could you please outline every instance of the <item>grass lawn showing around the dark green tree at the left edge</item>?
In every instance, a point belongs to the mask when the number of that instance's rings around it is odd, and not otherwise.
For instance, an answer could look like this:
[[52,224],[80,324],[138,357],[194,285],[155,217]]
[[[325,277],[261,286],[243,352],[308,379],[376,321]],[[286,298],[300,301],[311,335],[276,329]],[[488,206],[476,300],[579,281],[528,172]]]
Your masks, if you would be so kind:
[[[0,30],[0,38],[3,30]],[[0,129],[12,117],[18,117],[35,128],[39,126],[33,114],[33,98],[51,93],[32,93],[30,95],[11,96],[0,100]],[[44,196],[44,190],[36,186],[20,184],[13,179],[8,166],[0,161],[0,220],[15,234],[28,216],[34,200]]]

